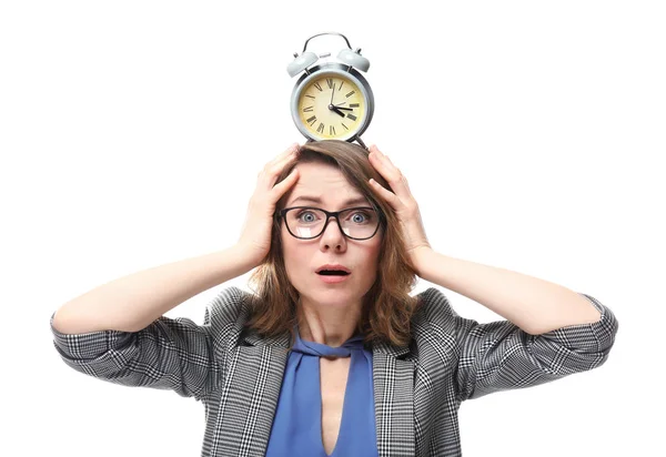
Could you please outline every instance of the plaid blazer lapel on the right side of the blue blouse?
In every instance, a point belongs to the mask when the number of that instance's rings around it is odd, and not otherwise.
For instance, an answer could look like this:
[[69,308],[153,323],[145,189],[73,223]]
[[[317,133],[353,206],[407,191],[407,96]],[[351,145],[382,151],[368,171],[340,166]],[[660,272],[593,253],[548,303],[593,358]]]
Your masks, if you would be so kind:
[[414,451],[414,362],[400,358],[408,347],[377,344],[373,348],[375,422],[380,457]]

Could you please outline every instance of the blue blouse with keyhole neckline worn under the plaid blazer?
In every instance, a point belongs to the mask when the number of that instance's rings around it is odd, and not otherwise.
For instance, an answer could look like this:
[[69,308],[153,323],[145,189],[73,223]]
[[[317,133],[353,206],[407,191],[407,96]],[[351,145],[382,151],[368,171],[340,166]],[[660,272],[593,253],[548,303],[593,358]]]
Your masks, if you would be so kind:
[[379,456],[376,444],[372,352],[363,335],[340,347],[301,339],[294,343],[282,379],[266,457],[329,457],[322,443],[320,356],[352,357],[340,433],[330,456]]

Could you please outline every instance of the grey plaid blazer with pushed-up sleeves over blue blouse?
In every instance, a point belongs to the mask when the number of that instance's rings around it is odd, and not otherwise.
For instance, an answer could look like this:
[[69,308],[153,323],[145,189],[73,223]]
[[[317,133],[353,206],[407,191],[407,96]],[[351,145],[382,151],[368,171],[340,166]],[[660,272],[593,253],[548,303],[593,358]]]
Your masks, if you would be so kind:
[[[465,399],[525,388],[601,366],[618,328],[609,308],[593,324],[531,335],[508,321],[478,324],[458,316],[431,287],[418,296],[412,341],[373,346],[379,454],[462,456],[460,405]],[[223,290],[204,324],[160,317],[135,333],[62,334],[51,329],[65,364],[111,383],[172,389],[205,408],[202,456],[263,456],[268,446],[290,335],[261,338],[243,331],[248,293]]]

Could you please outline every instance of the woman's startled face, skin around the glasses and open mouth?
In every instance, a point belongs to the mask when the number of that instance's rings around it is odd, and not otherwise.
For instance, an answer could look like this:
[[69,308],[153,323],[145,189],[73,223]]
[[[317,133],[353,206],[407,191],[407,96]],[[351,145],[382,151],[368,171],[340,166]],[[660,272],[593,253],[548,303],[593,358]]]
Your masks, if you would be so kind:
[[[341,211],[371,206],[370,201],[350,185],[336,167],[323,163],[300,163],[296,169],[299,180],[287,193],[284,207],[314,206]],[[356,199],[360,200],[353,201]],[[325,307],[360,305],[375,282],[383,236],[381,226],[372,238],[351,240],[332,217],[319,237],[299,240],[289,233],[283,220],[280,236],[286,274],[304,304]],[[315,273],[324,264],[341,264],[352,273],[341,283],[329,284]]]

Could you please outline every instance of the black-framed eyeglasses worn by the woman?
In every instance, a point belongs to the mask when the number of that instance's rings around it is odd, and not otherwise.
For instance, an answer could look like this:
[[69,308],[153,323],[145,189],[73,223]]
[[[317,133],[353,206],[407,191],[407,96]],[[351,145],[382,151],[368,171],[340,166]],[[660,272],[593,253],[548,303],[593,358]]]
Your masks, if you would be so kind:
[[372,238],[383,220],[381,212],[370,206],[334,212],[313,206],[293,206],[275,212],[278,220],[284,219],[289,233],[300,240],[316,238],[324,233],[332,216],[337,221],[340,231],[352,240]]

